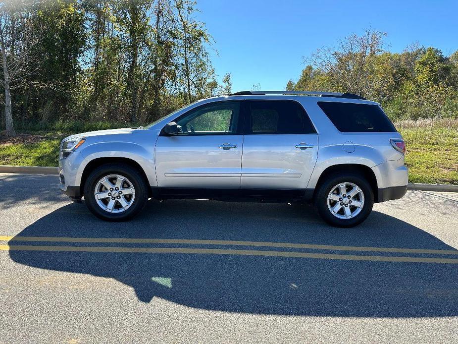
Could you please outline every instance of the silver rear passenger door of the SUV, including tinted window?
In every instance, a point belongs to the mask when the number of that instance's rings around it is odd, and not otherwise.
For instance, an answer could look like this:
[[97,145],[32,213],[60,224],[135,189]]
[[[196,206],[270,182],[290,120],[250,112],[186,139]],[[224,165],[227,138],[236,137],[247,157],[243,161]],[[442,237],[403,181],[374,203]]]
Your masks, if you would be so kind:
[[305,189],[318,152],[318,135],[296,101],[245,102],[242,189]]

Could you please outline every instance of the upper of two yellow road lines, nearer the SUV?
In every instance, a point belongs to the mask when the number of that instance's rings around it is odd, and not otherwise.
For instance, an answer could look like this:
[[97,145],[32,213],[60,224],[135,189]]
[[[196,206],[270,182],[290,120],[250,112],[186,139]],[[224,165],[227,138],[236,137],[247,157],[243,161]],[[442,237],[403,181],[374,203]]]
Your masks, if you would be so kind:
[[191,244],[191,245],[235,245],[235,246],[265,246],[282,248],[305,248],[334,251],[367,251],[393,253],[426,253],[426,254],[453,254],[458,250],[435,250],[421,248],[396,247],[366,247],[366,246],[336,246],[316,245],[290,242],[262,242],[237,240],[198,240],[198,239],[157,239],[157,238],[86,238],[62,236],[1,236],[0,241],[55,241],[55,242],[86,242],[86,243],[126,243],[126,244]]

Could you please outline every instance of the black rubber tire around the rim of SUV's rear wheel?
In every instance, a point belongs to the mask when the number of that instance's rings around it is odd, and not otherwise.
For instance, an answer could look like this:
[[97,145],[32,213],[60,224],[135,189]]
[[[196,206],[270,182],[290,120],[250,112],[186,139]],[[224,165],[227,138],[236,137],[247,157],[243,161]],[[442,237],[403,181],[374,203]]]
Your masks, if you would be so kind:
[[[350,219],[340,219],[334,216],[328,208],[329,193],[334,186],[344,182],[356,184],[364,195],[364,204],[361,211],[355,217]],[[318,213],[321,218],[329,225],[343,228],[355,227],[362,223],[372,211],[372,206],[374,205],[374,193],[372,191],[372,187],[362,175],[349,172],[336,173],[326,178],[326,180],[324,180],[319,186],[315,195],[315,205],[318,208]]]

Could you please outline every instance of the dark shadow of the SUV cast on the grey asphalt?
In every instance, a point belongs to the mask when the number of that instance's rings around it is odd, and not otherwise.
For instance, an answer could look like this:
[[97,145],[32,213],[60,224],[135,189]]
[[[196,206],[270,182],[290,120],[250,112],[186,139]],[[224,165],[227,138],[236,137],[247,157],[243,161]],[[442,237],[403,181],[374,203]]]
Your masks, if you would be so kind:
[[[204,200],[149,202],[141,216],[126,223],[103,222],[95,219],[84,205],[69,204],[28,226],[18,236],[186,238],[455,250],[426,231],[377,211],[373,211],[361,226],[336,229],[323,224],[312,208],[303,205]],[[24,244],[179,246],[412,256],[222,245],[10,241],[10,245]],[[142,302],[161,297],[201,309],[278,315],[458,315],[458,264],[226,254],[16,250],[9,254],[13,261],[31,267],[116,279],[133,287]]]

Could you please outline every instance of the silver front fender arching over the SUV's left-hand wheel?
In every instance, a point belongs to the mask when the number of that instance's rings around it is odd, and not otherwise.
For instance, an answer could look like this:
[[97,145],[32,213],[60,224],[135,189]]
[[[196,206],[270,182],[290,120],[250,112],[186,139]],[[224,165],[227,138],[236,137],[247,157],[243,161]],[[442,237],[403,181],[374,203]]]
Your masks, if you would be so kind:
[[99,142],[84,147],[80,151],[84,161],[76,173],[76,181],[80,184],[86,166],[98,158],[126,158],[138,163],[145,172],[151,186],[157,186],[154,170],[154,147],[144,147],[132,142]]

